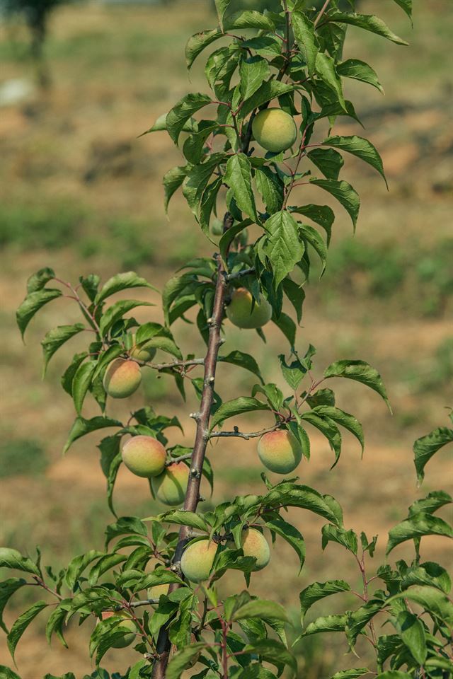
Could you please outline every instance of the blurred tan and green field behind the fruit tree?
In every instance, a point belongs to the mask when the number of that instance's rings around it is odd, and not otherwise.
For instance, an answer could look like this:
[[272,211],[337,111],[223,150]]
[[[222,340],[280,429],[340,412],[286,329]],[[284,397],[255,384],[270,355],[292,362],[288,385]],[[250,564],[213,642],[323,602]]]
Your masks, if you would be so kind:
[[[31,555],[40,545],[45,564],[59,567],[88,548],[102,549],[105,524],[113,518],[98,464],[99,437],[81,439],[66,457],[61,454],[74,412],[59,376],[77,340],[52,359],[47,378],[40,379],[40,340],[51,327],[78,320],[76,308],[65,301],[47,306],[30,324],[25,346],[15,310],[26,279],[40,267],[51,266],[73,282],[79,274],[98,272],[105,279],[134,269],[161,287],[190,257],[211,252],[182,197],[173,199],[168,220],[164,215],[161,177],[181,163],[179,151],[165,133],[137,136],[189,89],[206,91],[202,59],[189,82],[183,49],[189,35],[215,19],[209,0],[55,2],[47,16],[37,13],[38,0],[32,3],[34,13],[25,1],[1,1],[0,543]],[[311,460],[300,468],[302,482],[340,501],[345,526],[379,533],[379,555],[387,531],[406,516],[408,504],[435,488],[451,490],[452,481],[446,449],[428,465],[418,489],[411,448],[415,438],[447,424],[445,407],[453,405],[453,5],[449,0],[413,4],[412,30],[393,1],[360,2],[360,11],[382,16],[410,47],[348,31],[345,58],[369,62],[385,89],[383,97],[362,83],[346,86],[365,125],[363,134],[382,153],[390,192],[368,166],[345,158],[343,178],[362,198],[357,235],[352,236],[348,216],[338,207],[328,269],[321,282],[314,276],[307,290],[298,347],[304,350],[311,342],[317,348],[315,375],[336,359],[360,358],[377,367],[386,383],[393,417],[361,385],[333,385],[339,407],[364,424],[362,462],[357,442],[345,434],[340,463],[329,472],[332,453],[311,431]],[[11,11],[18,6],[19,13]],[[347,119],[336,130],[361,134]],[[316,187],[298,190],[304,202],[328,202]],[[159,303],[154,293],[142,298]],[[135,315],[162,320],[159,306]],[[190,325],[178,321],[175,333],[185,352],[197,351]],[[277,329],[266,335],[263,344],[253,331],[228,326],[225,348],[259,357],[266,380],[281,385],[276,355],[287,350],[287,343]],[[248,395],[253,382],[239,368],[219,368],[217,388],[224,397]],[[143,400],[162,414],[180,417],[185,435],[171,430],[171,443],[193,441],[193,421],[187,417],[195,406],[192,395],[184,404],[173,381],[149,371],[132,404],[113,404],[111,412],[124,417]],[[85,414],[96,414],[94,405],[87,403]],[[262,425],[265,420],[255,417],[246,429]],[[256,442],[224,439],[209,455],[217,484],[206,505],[263,490]],[[123,469],[115,499],[123,515],[149,516],[160,509],[147,483]],[[306,539],[302,574],[297,576],[294,553],[278,541],[270,567],[253,576],[251,591],[275,593],[297,627],[298,593],[304,586],[335,577],[354,585],[359,574],[336,545],[329,545],[323,557],[323,521],[303,511],[290,515]],[[442,542],[429,538],[422,555],[445,564],[444,550]],[[406,547],[395,552],[395,558],[410,555]],[[235,574],[222,586],[242,583]],[[13,607],[34,594],[21,591]],[[332,612],[336,602],[329,605]],[[320,603],[311,616],[322,612]],[[16,615],[10,605],[8,625]],[[38,618],[18,646],[23,679],[93,671],[86,646],[89,623],[71,627],[69,650],[55,639],[52,651],[42,636],[44,624]],[[327,677],[333,663],[339,669],[338,658],[345,666],[351,662],[343,659],[343,638],[332,636],[328,645],[314,637],[296,647],[301,676]],[[357,651],[362,656],[357,662],[365,664],[367,649],[359,642]],[[132,651],[109,651],[104,666],[121,671],[132,658]],[[9,662],[2,636],[0,664]]]

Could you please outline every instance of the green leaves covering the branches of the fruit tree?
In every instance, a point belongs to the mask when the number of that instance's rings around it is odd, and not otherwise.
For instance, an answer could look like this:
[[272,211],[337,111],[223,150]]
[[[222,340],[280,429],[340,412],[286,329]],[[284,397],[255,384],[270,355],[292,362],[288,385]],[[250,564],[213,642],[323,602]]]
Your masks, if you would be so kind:
[[[397,0],[397,4],[411,16],[409,0]],[[359,59],[343,61],[343,43],[350,25],[396,44],[406,43],[379,18],[355,13],[354,5],[353,1],[345,5],[332,0],[321,9],[302,0],[282,0],[281,6],[275,3],[273,11],[264,11],[269,7],[249,6],[245,0],[237,4],[216,0],[219,25],[188,41],[189,68],[210,47],[205,75],[212,93],[184,95],[147,132],[166,130],[185,159],[185,164],[168,170],[164,178],[166,207],[181,190],[202,233],[211,240],[215,226],[215,236],[221,237],[219,253],[194,257],[164,285],[164,323],[141,324],[134,318],[137,308],[154,306],[159,294],[134,272],[117,274],[103,284],[94,274],[80,277],[76,283],[66,282],[48,267],[30,277],[17,315],[22,335],[35,314],[57,298],[69,298],[79,308],[79,323],[59,325],[45,335],[44,363],[46,367],[67,341],[77,342],[78,353],[62,376],[76,414],[64,451],[81,437],[93,432],[102,436],[101,429],[109,429],[98,448],[115,521],[105,530],[103,551],[84,551],[57,574],[49,567],[42,569],[40,552],[31,559],[8,547],[0,549],[0,567],[21,571],[20,578],[0,583],[1,612],[23,586],[38,586],[46,597],[33,603],[6,630],[12,656],[28,625],[53,603],[56,605],[47,615],[48,642],[56,635],[66,644],[64,629],[74,617],[80,623],[93,616],[98,619],[89,644],[97,667],[93,679],[144,679],[153,674],[178,679],[190,667],[199,679],[273,679],[283,671],[296,676],[297,660],[286,637],[290,621],[285,608],[247,590],[220,600],[217,586],[229,570],[241,571],[248,586],[268,562],[268,538],[277,544],[285,540],[294,552],[295,566],[303,569],[304,536],[286,513],[294,507],[323,518],[323,550],[346,550],[357,564],[362,582],[360,591],[355,592],[348,582],[338,579],[339,574],[333,574],[326,582],[304,586],[299,595],[301,638],[336,632],[344,636],[345,650],[355,652],[357,641],[366,637],[376,651],[370,671],[384,679],[444,679],[449,672],[451,579],[440,564],[421,560],[425,536],[453,538],[453,528],[437,514],[452,502],[447,493],[434,491],[415,501],[408,516],[389,531],[386,555],[393,558],[394,550],[409,542],[415,550],[413,559],[400,559],[396,564],[386,561],[373,574],[369,561],[374,557],[377,536],[357,535],[344,525],[343,511],[334,497],[299,484],[297,477],[271,483],[263,474],[262,494],[237,496],[221,504],[212,501],[205,511],[198,506],[202,480],[213,487],[214,472],[205,457],[208,441],[258,439],[263,433],[290,431],[300,445],[300,455],[308,460],[314,427],[331,446],[333,467],[340,459],[342,430],[355,436],[362,452],[364,434],[356,417],[338,407],[326,381],[346,378],[359,382],[388,404],[379,371],[365,361],[339,359],[329,366],[317,366],[314,347],[300,348],[292,318],[302,321],[313,250],[321,261],[321,272],[326,267],[335,217],[326,205],[299,205],[297,187],[309,183],[327,192],[347,211],[355,228],[360,198],[339,178],[343,152],[365,161],[385,180],[379,153],[367,139],[333,134],[338,116],[357,120],[352,103],[345,100],[344,78],[382,89],[371,66]],[[241,33],[243,30],[246,33]],[[222,42],[217,44],[218,40]],[[260,154],[252,139],[253,120],[271,103],[297,120],[298,139],[294,149]],[[323,141],[311,143],[313,139]],[[307,167],[306,161],[311,163]],[[226,206],[222,222],[217,216],[221,200]],[[249,233],[253,233],[251,240]],[[238,287],[248,291],[251,313],[262,298],[267,301],[272,322],[289,343],[287,353],[278,356],[285,390],[267,381],[267,366],[260,366],[254,356],[237,350],[223,354],[220,349],[221,330],[228,332],[225,308]],[[139,289],[139,299],[129,298],[131,289]],[[191,322],[195,316],[200,345],[207,344],[201,357],[185,354],[176,335],[178,322]],[[262,327],[257,332],[265,339]],[[145,346],[153,350],[152,359],[137,359],[134,352]],[[246,371],[258,383],[252,383],[245,394],[223,401],[214,375],[219,361],[229,364],[231,370]],[[111,397],[132,394],[142,371],[174,380],[182,398],[186,389],[193,389],[200,400],[199,412],[190,414],[197,423],[193,448],[172,446],[168,430],[182,431],[180,422],[150,405],[132,412],[126,407],[121,419],[110,416],[104,378],[108,371],[110,380],[110,371],[116,366],[125,368],[125,373],[120,388],[109,389]],[[205,368],[203,376],[196,372],[200,366]],[[86,417],[88,398],[97,404],[99,414]],[[253,412],[266,418],[265,429],[240,431],[237,418],[247,418]],[[226,429],[229,420],[234,424]],[[122,465],[123,441],[137,435],[153,437],[165,446],[166,469],[156,477],[156,483],[159,488],[168,479],[175,487],[186,483],[184,509],[144,518],[116,516],[113,489]],[[452,440],[452,430],[444,426],[415,442],[415,470],[420,481],[432,455]],[[175,494],[182,497],[182,493]],[[196,547],[192,555],[202,553],[200,540],[203,545],[211,541],[212,561],[209,569],[206,564],[194,564],[205,579],[193,586],[184,579],[180,563],[188,545]],[[154,587],[159,587],[159,596],[153,596]],[[320,601],[328,605],[333,594],[338,605],[346,601],[343,612],[315,617],[306,625],[306,613],[311,615],[311,608],[315,610]],[[352,595],[358,600],[346,608]],[[386,634],[374,627],[378,614]],[[110,678],[100,668],[103,656],[110,648],[128,643],[134,644],[137,662],[123,677],[114,673]],[[168,646],[173,654],[166,666],[166,656],[159,654]],[[7,668],[2,671],[16,679]],[[368,672],[364,667],[350,668],[333,679],[357,679]],[[73,679],[73,675],[67,673],[64,679]]]

